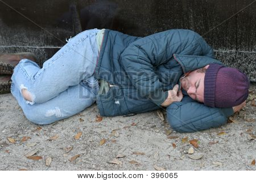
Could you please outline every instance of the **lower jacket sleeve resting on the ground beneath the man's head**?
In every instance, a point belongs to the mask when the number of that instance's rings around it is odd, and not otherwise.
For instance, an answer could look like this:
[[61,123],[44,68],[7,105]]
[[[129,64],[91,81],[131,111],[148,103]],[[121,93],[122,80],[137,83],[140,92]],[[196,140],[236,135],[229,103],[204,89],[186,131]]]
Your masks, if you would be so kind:
[[233,113],[232,107],[208,107],[188,96],[167,107],[168,122],[178,132],[195,132],[224,125]]

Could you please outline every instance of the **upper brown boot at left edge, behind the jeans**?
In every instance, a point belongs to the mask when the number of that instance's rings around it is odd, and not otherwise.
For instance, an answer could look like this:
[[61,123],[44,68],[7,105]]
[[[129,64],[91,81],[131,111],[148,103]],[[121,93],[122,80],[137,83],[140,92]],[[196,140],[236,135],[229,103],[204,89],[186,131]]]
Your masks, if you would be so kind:
[[0,74],[11,75],[13,74],[14,67],[22,59],[36,61],[36,56],[31,52],[19,52],[13,54],[0,55]]

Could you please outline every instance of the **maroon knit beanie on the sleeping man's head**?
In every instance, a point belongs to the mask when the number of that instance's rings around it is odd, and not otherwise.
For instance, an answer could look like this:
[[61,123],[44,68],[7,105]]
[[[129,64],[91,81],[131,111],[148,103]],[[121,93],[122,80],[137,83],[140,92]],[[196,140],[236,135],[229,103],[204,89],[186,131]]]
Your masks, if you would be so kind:
[[250,82],[236,68],[210,64],[204,78],[204,105],[233,107],[242,104],[249,94]]

